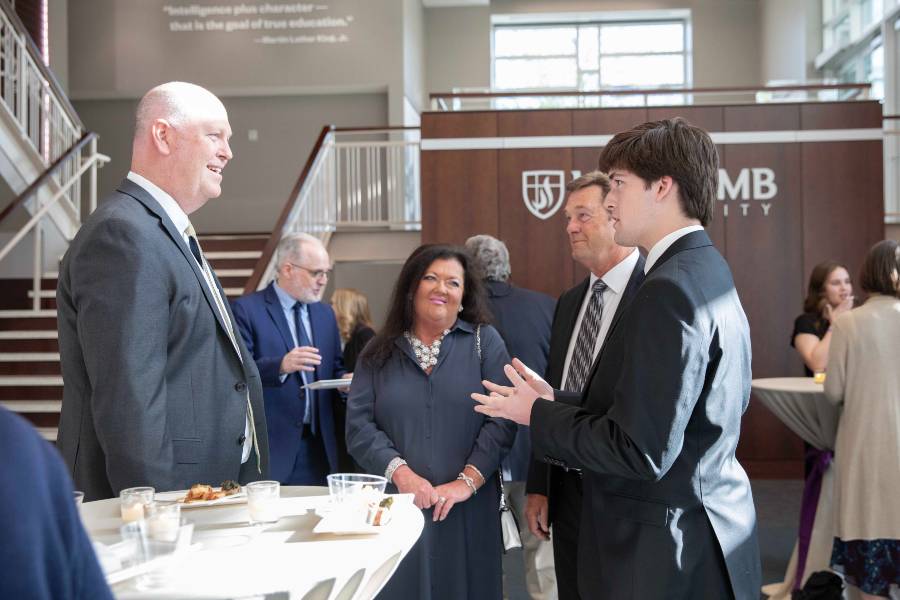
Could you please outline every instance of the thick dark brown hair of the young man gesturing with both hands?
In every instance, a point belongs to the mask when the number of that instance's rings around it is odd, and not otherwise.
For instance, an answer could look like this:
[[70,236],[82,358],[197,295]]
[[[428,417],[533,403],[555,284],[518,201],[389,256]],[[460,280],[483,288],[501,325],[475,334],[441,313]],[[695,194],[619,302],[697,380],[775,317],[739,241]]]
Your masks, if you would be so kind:
[[678,184],[681,209],[706,227],[719,182],[719,154],[703,129],[681,117],[650,121],[617,133],[600,153],[600,169],[626,169],[650,187],[668,175]]

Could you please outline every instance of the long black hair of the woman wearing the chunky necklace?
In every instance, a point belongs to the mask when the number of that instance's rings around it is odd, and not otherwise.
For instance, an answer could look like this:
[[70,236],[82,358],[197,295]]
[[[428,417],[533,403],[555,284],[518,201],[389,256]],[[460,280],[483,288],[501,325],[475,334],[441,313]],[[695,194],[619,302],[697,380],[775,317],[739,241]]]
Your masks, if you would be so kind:
[[415,317],[415,295],[425,271],[436,260],[455,260],[463,268],[463,298],[460,318],[473,324],[489,323],[491,312],[481,277],[465,248],[447,244],[425,244],[413,250],[400,270],[384,327],[366,346],[362,360],[380,367],[394,351],[394,341],[410,331]]

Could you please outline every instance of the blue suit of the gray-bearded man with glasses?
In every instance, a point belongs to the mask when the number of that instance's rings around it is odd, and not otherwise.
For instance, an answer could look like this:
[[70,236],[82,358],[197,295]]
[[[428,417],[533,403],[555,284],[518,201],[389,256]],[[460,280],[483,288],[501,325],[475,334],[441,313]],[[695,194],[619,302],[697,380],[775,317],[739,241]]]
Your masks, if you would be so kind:
[[[303,427],[303,402],[299,372],[291,373],[282,382],[279,376],[281,359],[294,348],[294,340],[274,284],[266,289],[242,296],[232,302],[238,329],[253,355],[263,385],[266,422],[269,429],[270,473],[272,479],[284,481],[294,468],[300,449],[300,429]],[[341,357],[341,338],[334,311],[327,304],[309,305],[312,343],[322,355],[316,367],[315,379],[334,379],[344,374]],[[333,403],[339,402],[334,390],[312,392],[313,419],[325,444],[330,470],[338,470],[338,446],[334,429]]]

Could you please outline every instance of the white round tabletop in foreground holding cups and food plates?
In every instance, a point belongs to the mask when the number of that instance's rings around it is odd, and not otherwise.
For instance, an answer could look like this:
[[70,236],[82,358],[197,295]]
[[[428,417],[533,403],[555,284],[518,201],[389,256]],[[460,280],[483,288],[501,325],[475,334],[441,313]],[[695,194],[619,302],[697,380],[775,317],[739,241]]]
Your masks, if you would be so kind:
[[[178,557],[171,580],[138,590],[135,580],[112,586],[119,599],[245,598],[368,599],[384,586],[422,533],[422,511],[395,502],[392,520],[375,535],[316,534],[317,507],[328,501],[323,487],[281,487],[281,518],[248,525],[247,504],[188,508],[193,546]],[[95,542],[121,541],[118,498],[86,502],[85,528]]]

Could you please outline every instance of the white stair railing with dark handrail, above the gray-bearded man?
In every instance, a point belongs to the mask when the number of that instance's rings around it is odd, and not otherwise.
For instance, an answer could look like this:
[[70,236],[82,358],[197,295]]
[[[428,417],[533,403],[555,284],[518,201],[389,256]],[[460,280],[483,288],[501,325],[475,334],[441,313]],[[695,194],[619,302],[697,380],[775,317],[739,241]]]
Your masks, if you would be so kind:
[[418,127],[323,127],[244,293],[272,280],[287,233],[327,245],[338,229],[421,229],[419,142]]

